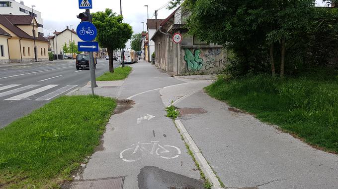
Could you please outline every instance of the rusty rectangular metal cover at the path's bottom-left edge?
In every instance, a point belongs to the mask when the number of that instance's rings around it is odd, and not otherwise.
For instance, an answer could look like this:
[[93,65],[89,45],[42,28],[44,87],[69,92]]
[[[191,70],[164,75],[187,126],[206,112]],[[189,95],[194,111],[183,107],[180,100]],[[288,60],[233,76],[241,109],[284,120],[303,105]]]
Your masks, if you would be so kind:
[[123,177],[72,182],[67,189],[122,189]]

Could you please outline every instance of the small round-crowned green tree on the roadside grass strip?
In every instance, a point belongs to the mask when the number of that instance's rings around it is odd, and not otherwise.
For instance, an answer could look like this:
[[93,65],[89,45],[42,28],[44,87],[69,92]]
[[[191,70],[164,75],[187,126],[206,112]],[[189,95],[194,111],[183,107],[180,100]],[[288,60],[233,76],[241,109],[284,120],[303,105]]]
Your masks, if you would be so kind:
[[96,41],[100,47],[107,48],[109,55],[109,71],[114,72],[113,50],[124,48],[133,34],[132,27],[123,23],[123,16],[116,15],[111,9],[106,8],[104,12],[92,13],[93,24],[97,28]]

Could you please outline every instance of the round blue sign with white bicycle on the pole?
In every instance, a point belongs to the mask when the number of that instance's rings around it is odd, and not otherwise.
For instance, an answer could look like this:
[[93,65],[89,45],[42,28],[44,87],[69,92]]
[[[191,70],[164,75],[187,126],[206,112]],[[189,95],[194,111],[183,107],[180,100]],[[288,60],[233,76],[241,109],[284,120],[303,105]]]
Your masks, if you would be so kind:
[[76,32],[79,38],[86,42],[93,41],[97,35],[97,29],[91,22],[81,22]]

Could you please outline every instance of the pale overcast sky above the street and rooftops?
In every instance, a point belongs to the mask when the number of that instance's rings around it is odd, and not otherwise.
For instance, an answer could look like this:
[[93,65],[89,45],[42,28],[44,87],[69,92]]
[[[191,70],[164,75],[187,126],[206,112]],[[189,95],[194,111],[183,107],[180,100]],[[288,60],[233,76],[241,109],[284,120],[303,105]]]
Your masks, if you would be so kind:
[[[20,0],[16,0],[20,1]],[[79,9],[78,0],[23,0],[28,7],[35,5],[34,9],[41,12],[43,19],[45,36],[53,35],[53,31],[62,31],[66,26],[73,25],[76,28],[80,23],[80,19],[76,16],[83,12]],[[122,0],[122,14],[124,22],[129,23],[133,27],[134,33],[140,33],[143,30],[145,22],[145,30],[147,30],[147,7],[149,5],[149,18],[155,18],[155,10],[163,7],[169,0]],[[324,5],[322,0],[317,0],[318,4]],[[91,12],[104,11],[110,8],[114,12],[120,13],[119,0],[92,0],[93,9]],[[167,18],[173,10],[168,10],[167,6],[158,11],[158,19]],[[127,45],[129,47],[129,44]]]

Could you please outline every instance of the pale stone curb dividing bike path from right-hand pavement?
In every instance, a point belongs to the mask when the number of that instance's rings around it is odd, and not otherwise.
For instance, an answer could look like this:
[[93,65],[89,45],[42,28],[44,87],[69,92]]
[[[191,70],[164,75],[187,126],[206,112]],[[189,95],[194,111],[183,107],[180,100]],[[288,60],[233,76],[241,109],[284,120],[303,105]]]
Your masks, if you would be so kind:
[[185,129],[184,125],[182,122],[178,119],[175,120],[175,124],[179,130],[179,133],[183,136],[184,142],[186,142],[190,150],[194,153],[194,157],[196,161],[198,162],[202,172],[204,173],[206,179],[208,179],[213,185],[211,189],[224,189],[222,188],[220,182],[218,181],[216,174],[214,171],[211,169],[210,165],[208,164],[207,160],[203,156],[203,154],[200,152],[198,146],[196,143],[192,140],[191,136]]

